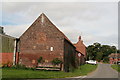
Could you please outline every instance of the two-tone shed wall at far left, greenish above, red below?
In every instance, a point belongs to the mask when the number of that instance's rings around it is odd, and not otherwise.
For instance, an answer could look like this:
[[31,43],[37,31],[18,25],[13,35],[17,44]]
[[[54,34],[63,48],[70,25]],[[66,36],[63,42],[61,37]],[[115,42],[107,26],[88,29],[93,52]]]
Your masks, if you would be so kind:
[[13,52],[14,52],[14,38],[6,35],[0,35],[1,52],[0,63],[8,64],[13,63]]

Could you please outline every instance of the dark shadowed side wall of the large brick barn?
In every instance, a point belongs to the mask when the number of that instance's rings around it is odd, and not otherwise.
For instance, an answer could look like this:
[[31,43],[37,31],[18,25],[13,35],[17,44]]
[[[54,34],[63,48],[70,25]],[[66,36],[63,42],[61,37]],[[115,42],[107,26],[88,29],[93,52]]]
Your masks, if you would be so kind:
[[76,68],[76,50],[67,40],[64,41],[64,71],[73,71]]

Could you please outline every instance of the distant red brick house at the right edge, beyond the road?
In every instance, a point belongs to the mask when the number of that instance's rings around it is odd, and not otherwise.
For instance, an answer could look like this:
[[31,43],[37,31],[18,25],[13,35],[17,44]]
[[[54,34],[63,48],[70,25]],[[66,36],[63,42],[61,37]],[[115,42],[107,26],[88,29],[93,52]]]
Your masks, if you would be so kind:
[[119,53],[112,53],[109,55],[109,63],[115,64],[116,62],[120,62],[120,54]]

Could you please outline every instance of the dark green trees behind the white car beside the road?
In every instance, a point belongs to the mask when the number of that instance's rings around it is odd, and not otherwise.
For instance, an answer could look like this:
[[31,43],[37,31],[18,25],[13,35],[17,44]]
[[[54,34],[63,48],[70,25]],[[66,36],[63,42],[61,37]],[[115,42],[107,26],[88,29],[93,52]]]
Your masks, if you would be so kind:
[[[108,56],[111,53],[116,53],[117,49],[115,46],[101,45],[100,43],[93,43],[87,47],[87,59],[103,60],[108,62]],[[119,50],[118,50],[119,51]]]

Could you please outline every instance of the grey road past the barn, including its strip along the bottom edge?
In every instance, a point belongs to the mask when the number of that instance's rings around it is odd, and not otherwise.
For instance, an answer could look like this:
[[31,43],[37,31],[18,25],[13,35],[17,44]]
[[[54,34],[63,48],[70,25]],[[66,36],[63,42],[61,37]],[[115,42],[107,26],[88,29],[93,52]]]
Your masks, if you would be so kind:
[[98,64],[98,68],[85,77],[42,80],[118,80],[118,72],[112,69],[110,64]]

